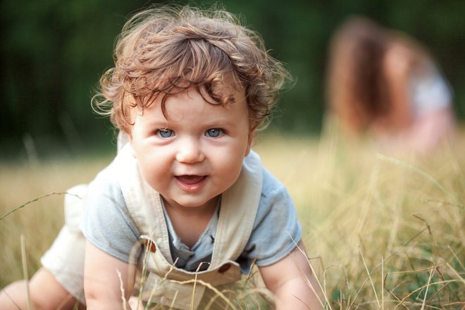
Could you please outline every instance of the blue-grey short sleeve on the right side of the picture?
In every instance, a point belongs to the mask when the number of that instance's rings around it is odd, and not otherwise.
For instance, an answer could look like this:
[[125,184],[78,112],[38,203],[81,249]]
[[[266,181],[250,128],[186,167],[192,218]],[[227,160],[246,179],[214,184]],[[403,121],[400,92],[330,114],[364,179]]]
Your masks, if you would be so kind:
[[247,273],[255,261],[268,266],[289,254],[302,237],[297,212],[285,186],[263,170],[263,187],[254,228],[244,252],[238,259]]

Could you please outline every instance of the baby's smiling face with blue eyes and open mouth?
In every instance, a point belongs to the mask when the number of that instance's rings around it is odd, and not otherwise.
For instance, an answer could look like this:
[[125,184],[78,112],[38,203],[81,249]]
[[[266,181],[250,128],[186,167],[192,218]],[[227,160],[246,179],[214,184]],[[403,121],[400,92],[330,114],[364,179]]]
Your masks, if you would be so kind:
[[[210,104],[195,89],[161,97],[135,113],[130,142],[144,180],[171,206],[202,207],[237,180],[249,154],[243,91],[232,104]],[[135,108],[137,109],[137,108]]]

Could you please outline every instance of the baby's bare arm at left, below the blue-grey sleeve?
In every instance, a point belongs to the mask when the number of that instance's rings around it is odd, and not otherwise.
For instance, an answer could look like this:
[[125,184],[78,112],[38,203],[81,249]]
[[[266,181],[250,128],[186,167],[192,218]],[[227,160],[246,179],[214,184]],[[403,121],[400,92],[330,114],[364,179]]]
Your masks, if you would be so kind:
[[[135,283],[133,266],[106,254],[87,241],[84,291],[87,309],[124,309]],[[131,268],[131,269],[130,269]],[[120,275],[118,275],[118,272]],[[127,305],[125,309],[130,309]]]

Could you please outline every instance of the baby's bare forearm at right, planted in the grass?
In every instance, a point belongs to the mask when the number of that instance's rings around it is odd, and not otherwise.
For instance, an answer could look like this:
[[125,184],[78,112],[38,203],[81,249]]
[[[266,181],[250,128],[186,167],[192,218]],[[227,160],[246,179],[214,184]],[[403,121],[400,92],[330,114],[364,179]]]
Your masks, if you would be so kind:
[[[304,251],[302,242],[299,248]],[[297,247],[271,266],[260,267],[263,281],[275,295],[276,309],[323,309],[321,287],[309,261]],[[313,289],[312,289],[313,287]]]

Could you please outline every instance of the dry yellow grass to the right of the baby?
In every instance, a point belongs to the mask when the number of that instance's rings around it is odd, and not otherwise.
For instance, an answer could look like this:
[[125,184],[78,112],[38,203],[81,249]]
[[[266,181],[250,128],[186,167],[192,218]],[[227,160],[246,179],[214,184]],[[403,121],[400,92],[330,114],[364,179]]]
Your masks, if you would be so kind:
[[298,206],[328,309],[465,309],[465,136],[428,156],[274,137],[259,144]]

